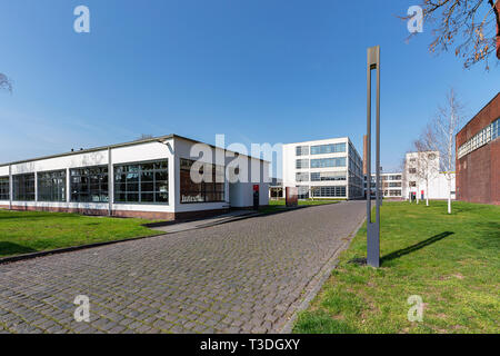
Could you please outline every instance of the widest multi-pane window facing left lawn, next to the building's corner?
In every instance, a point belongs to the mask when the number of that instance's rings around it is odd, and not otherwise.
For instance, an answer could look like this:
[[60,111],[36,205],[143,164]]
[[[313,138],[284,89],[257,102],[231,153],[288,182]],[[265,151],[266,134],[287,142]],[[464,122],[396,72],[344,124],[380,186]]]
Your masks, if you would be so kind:
[[116,165],[114,201],[169,204],[169,164],[156,160]]

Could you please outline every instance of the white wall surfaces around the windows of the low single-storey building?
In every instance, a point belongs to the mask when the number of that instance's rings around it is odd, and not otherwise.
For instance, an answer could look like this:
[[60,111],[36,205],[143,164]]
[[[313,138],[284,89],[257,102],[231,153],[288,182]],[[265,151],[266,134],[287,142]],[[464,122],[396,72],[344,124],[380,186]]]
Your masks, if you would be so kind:
[[[212,210],[228,208],[230,205],[234,207],[248,207],[253,205],[253,184],[260,186],[260,205],[268,205],[268,181],[269,181],[269,162],[260,159],[251,158],[249,162],[249,172],[252,167],[260,170],[256,181],[237,182],[230,185],[226,180],[226,201],[217,202],[180,202],[180,171],[179,160],[180,158],[198,159],[191,157],[191,148],[197,142],[182,139],[179,137],[170,138],[163,142],[151,141],[137,144],[132,146],[117,147],[111,149],[111,161],[117,164],[133,164],[148,160],[168,159],[169,161],[169,204],[112,204],[113,210],[128,210],[128,211],[164,211],[164,212],[183,212],[183,211],[197,211],[197,210]],[[212,151],[216,149],[211,148]],[[224,157],[224,150],[217,148],[217,152],[220,154],[221,161],[216,161],[219,165],[228,165],[233,158]],[[212,162],[210,157],[202,157],[202,161]],[[68,156],[60,156],[54,158],[38,159],[28,162],[12,165],[12,175],[36,172],[36,171],[49,171],[59,169],[70,169],[89,166],[102,166],[108,165],[108,149],[92,151],[92,152],[74,152]],[[113,170],[109,172],[113,177]],[[9,176],[9,166],[0,167],[0,176]],[[251,175],[250,175],[251,177]],[[67,170],[67,180],[69,182],[69,175]],[[69,185],[68,185],[69,187]],[[109,187],[109,196],[113,197],[113,185]],[[232,189],[230,196],[230,189]],[[231,198],[232,197],[232,198]],[[78,209],[102,209],[107,210],[108,202],[71,202],[69,201],[70,192],[67,191],[68,201],[12,201],[16,206],[27,207],[57,207],[57,208],[78,208]],[[231,204],[230,204],[231,202]],[[8,204],[3,202],[3,204]]]

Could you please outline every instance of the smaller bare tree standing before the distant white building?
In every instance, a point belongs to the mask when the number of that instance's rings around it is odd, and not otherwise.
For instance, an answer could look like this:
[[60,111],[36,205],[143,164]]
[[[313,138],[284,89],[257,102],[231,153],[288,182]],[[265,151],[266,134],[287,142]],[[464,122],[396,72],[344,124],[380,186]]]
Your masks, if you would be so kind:
[[426,206],[429,206],[429,182],[439,175],[439,152],[433,150],[434,134],[428,125],[413,142],[417,152],[416,175],[426,184]]

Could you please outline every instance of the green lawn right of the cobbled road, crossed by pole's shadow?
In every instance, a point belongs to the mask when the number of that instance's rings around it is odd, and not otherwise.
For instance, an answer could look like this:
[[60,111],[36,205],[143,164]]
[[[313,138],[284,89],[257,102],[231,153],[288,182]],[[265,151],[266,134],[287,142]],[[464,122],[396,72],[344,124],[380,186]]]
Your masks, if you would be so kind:
[[[296,333],[500,333],[500,207],[384,201],[381,268],[366,257],[366,226],[346,250]],[[407,299],[423,300],[409,322]]]

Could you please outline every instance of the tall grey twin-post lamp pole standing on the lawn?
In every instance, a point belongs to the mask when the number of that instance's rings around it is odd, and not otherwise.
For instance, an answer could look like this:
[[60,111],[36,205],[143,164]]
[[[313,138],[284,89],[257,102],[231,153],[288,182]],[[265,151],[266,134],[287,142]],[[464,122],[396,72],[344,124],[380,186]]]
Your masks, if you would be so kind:
[[[367,176],[370,184],[367,194],[367,264],[380,266],[380,46],[367,51]],[[376,221],[371,221],[371,70],[377,69],[376,107]]]

